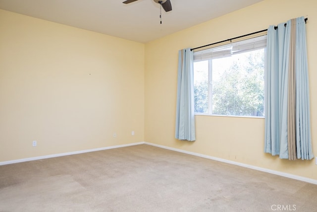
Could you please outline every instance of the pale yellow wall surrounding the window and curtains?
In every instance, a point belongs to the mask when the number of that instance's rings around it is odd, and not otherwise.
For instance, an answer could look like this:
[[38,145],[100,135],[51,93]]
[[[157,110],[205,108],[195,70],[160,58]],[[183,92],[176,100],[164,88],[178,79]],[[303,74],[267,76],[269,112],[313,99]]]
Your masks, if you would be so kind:
[[[288,161],[264,153],[264,119],[196,116],[195,142],[174,139],[178,50],[308,17],[312,139],[317,155],[317,1],[264,0],[146,44],[145,140],[213,157],[317,179],[315,160]],[[188,17],[190,18],[190,17]]]

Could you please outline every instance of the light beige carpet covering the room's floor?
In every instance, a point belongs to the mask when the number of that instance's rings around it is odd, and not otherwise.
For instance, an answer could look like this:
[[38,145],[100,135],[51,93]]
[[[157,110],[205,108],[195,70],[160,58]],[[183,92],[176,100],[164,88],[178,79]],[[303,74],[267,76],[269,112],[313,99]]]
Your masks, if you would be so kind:
[[314,184],[146,144],[0,166],[1,212],[316,212],[316,195]]

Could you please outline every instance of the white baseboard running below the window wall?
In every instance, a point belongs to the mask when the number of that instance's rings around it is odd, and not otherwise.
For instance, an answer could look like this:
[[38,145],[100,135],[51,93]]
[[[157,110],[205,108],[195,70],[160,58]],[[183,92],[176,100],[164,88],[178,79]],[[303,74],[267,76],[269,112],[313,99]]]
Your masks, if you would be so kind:
[[266,169],[266,168],[262,168],[262,167],[258,167],[258,166],[253,166],[253,165],[248,165],[245,163],[239,163],[236,161],[232,161],[232,160],[226,160],[226,159],[222,159],[222,158],[218,158],[218,157],[212,157],[212,156],[208,156],[208,155],[204,155],[204,154],[199,154],[199,153],[195,153],[195,152],[190,152],[190,151],[185,151],[182,149],[178,149],[178,148],[172,148],[172,147],[168,147],[168,146],[163,146],[163,145],[159,145],[159,144],[155,144],[155,143],[149,143],[149,142],[144,142],[145,144],[148,145],[152,145],[152,146],[157,146],[160,148],[165,148],[165,149],[169,149],[169,150],[173,150],[173,151],[178,151],[178,152],[182,152],[182,153],[186,153],[186,154],[191,154],[191,155],[195,155],[195,156],[199,156],[199,157],[204,157],[204,158],[208,158],[211,160],[216,160],[216,161],[220,161],[220,162],[224,162],[224,163],[230,163],[233,165],[237,165],[237,166],[242,166],[242,167],[246,167],[246,168],[250,168],[250,169],[255,169],[258,171],[263,171],[263,172],[267,172],[270,174],[275,174],[275,175],[279,175],[279,176],[283,176],[283,177],[287,177],[287,178],[292,178],[295,180],[300,180],[300,181],[304,181],[307,183],[312,183],[312,184],[316,184],[317,185],[317,180],[311,179],[311,178],[307,178],[307,177],[302,177],[302,176],[298,176],[298,175],[293,175],[293,174],[288,174],[285,172],[280,172],[280,171],[275,171],[275,170],[271,170],[271,169]]

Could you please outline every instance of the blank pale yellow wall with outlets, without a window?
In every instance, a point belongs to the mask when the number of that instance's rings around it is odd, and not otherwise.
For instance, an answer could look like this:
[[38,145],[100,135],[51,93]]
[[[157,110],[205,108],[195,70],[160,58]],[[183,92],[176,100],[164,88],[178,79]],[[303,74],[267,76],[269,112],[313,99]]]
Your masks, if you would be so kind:
[[144,141],[144,48],[0,10],[0,161]]

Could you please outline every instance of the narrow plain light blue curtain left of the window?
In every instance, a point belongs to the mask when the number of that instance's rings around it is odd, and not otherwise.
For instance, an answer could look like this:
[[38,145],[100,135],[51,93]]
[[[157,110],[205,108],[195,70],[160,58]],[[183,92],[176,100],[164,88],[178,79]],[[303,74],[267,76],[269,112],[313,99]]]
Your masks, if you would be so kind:
[[195,141],[194,53],[190,48],[179,50],[175,138]]

